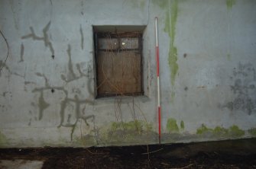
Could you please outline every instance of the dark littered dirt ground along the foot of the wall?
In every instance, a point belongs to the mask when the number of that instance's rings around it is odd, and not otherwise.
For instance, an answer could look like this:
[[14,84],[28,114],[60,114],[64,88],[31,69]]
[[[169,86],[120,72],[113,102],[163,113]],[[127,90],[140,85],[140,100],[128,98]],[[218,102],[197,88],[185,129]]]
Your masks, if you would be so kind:
[[0,160],[42,168],[256,168],[256,139],[107,148],[2,148]]

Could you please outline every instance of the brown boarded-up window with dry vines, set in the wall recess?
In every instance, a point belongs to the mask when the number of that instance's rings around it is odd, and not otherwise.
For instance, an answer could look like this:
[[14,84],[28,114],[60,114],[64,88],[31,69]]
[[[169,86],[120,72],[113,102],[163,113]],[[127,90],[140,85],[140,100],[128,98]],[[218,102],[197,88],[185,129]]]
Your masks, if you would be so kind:
[[142,33],[94,33],[97,97],[141,95]]

